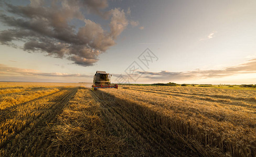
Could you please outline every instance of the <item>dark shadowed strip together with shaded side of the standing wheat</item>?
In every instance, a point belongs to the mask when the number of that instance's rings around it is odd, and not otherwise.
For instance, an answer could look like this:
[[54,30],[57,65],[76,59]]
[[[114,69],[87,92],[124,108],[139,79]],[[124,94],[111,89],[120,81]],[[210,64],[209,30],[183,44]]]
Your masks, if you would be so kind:
[[[120,91],[116,91],[120,92]],[[229,132],[205,127],[205,121],[195,121],[186,114],[176,114],[155,103],[145,103],[137,98],[99,90],[102,106],[109,110],[116,121],[156,156],[255,156],[255,140]],[[186,111],[185,111],[186,112]],[[106,116],[108,117],[108,116]],[[115,126],[115,125],[114,125]],[[115,126],[116,127],[116,126]],[[215,131],[216,129],[217,131]],[[242,135],[241,131],[241,135]]]

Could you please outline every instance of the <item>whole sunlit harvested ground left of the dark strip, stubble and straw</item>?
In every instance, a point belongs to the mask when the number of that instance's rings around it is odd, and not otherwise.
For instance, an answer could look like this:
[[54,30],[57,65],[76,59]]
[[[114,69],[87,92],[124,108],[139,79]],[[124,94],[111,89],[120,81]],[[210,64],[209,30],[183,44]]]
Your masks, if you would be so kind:
[[112,134],[90,93],[66,86],[1,110],[0,156],[121,155],[125,141]]

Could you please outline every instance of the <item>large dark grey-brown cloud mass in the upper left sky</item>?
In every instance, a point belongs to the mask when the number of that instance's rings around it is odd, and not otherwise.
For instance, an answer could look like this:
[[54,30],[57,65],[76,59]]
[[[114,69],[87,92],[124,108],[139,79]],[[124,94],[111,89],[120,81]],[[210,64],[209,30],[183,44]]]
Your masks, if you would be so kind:
[[[66,58],[83,66],[94,65],[99,54],[115,44],[114,40],[128,24],[124,10],[102,10],[108,7],[106,0],[53,1],[50,6],[37,0],[27,6],[5,4],[5,7],[5,12],[0,13],[0,20],[10,29],[0,31],[2,44]],[[110,31],[84,18],[82,8],[104,16],[104,19],[111,16]],[[73,19],[84,21],[85,25],[76,28],[71,25]],[[16,41],[24,42],[24,45],[17,46]]]

